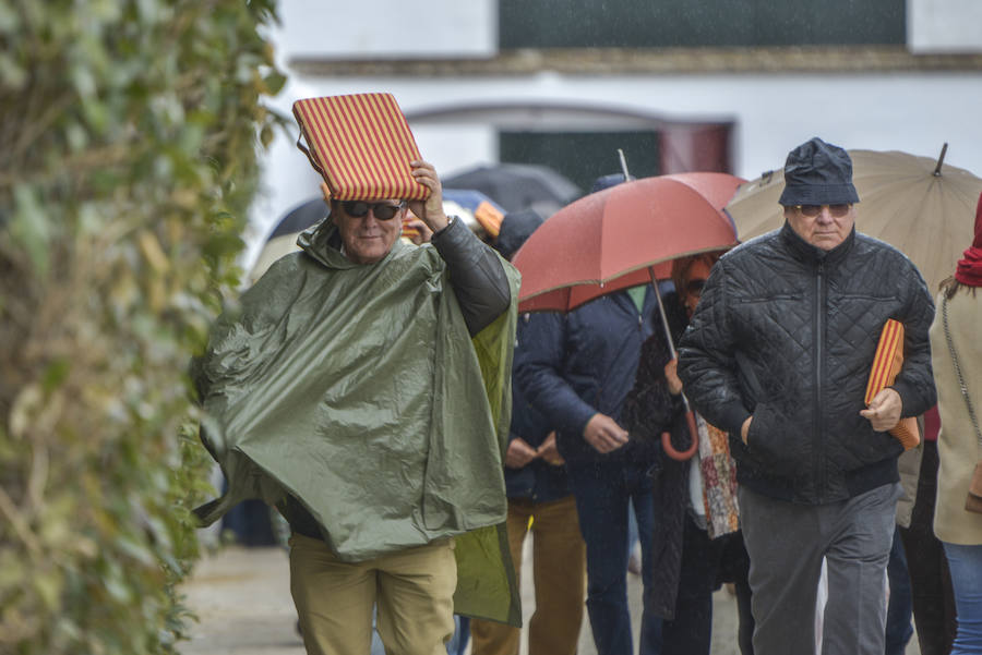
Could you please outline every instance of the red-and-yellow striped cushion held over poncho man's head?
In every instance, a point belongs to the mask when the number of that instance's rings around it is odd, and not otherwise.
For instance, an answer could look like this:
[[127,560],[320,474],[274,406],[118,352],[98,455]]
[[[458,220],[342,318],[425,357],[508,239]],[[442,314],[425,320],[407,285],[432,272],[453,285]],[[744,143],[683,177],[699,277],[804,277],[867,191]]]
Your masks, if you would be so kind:
[[294,102],[302,137],[297,146],[339,201],[424,199],[430,191],[411,174],[421,159],[406,117],[392,94],[355,94]]

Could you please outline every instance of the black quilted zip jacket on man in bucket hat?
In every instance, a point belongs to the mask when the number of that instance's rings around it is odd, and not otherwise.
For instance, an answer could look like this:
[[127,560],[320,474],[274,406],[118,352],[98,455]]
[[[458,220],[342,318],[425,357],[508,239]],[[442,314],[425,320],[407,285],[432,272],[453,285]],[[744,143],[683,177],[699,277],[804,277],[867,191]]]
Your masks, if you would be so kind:
[[[853,231],[831,251],[787,223],[712,268],[682,338],[679,375],[694,409],[729,430],[738,481],[818,505],[899,480],[900,444],[860,415],[881,329],[906,328],[893,385],[902,414],[935,402],[924,280],[894,247]],[[743,421],[753,414],[747,446]]]

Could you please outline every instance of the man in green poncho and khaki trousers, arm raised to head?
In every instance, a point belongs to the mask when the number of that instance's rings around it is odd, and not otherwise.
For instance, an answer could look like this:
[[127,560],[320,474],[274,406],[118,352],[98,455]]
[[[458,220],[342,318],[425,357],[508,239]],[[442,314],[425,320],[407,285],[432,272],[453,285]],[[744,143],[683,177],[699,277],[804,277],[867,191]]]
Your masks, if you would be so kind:
[[[280,510],[309,653],[368,653],[373,606],[388,653],[445,653],[455,601],[516,619],[499,555],[518,275],[444,215],[431,165],[412,175],[427,201],[331,199],[193,367],[229,480],[197,513],[247,497]],[[430,245],[399,239],[407,205]],[[474,547],[455,558],[456,535]]]

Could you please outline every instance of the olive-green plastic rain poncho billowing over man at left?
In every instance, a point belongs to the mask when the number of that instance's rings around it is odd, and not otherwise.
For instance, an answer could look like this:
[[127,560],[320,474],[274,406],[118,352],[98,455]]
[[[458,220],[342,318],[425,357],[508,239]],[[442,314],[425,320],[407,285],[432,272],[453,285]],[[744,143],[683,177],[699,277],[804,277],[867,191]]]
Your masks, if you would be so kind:
[[502,452],[518,274],[502,260],[511,308],[471,339],[433,246],[397,241],[359,266],[333,231],[304,232],[192,367],[229,482],[196,511],[291,494],[348,561],[456,536],[454,610],[517,624]]

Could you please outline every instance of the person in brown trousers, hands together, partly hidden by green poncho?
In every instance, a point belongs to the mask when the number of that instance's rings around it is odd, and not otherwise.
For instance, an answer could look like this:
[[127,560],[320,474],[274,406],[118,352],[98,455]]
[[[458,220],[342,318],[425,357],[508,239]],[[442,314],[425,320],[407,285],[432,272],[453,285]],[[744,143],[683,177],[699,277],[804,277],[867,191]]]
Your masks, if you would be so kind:
[[[542,223],[535,210],[511,211],[501,223],[493,247],[511,260]],[[532,315],[518,317],[516,352],[537,350],[526,327]],[[576,502],[570,492],[563,458],[552,425],[512,385],[512,423],[505,452],[508,496],[508,547],[516,574],[522,546],[532,533],[535,612],[528,621],[529,655],[576,655],[586,587],[586,545],[579,535]],[[518,655],[518,628],[494,621],[471,621],[474,655]]]

